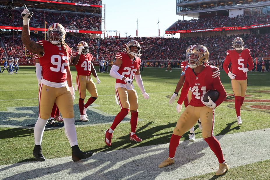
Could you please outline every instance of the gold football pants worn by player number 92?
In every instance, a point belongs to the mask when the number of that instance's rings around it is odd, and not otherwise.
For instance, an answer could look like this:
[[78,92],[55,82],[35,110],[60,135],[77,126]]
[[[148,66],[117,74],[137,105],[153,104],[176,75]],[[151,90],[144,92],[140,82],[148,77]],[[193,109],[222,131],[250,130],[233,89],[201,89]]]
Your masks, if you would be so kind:
[[55,88],[40,84],[38,93],[38,111],[41,119],[49,119],[52,107],[56,103],[63,118],[73,118],[73,100],[68,86]]

